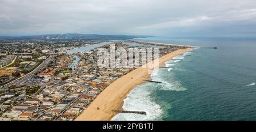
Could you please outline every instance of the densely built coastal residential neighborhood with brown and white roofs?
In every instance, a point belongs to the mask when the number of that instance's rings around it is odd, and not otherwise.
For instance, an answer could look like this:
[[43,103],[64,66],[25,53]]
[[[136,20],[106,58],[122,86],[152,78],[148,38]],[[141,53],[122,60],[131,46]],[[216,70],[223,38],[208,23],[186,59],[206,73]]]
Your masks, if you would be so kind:
[[[98,41],[98,43],[104,41]],[[116,49],[149,47],[160,49],[159,56],[164,56],[185,46],[163,45],[139,41],[109,41],[108,44],[90,50],[68,53],[69,50],[94,45],[96,41],[75,41],[67,44],[59,42],[20,42],[22,50],[10,49],[8,55],[15,61],[9,74],[2,69],[0,95],[0,120],[75,120],[96,97],[114,80],[137,67],[99,67],[97,60],[100,48],[110,51]],[[103,44],[103,43],[102,43]],[[11,44],[12,47],[18,44]],[[40,46],[39,46],[40,45]],[[3,48],[0,52],[6,52]],[[151,53],[151,52],[148,52]],[[153,53],[152,53],[153,54]],[[120,55],[116,54],[115,58]],[[153,59],[154,56],[152,56]],[[10,60],[11,60],[10,59]],[[126,61],[129,61],[126,60]],[[6,63],[10,61],[6,61]],[[139,62],[146,63],[144,58]],[[5,80],[5,83],[4,83]]]

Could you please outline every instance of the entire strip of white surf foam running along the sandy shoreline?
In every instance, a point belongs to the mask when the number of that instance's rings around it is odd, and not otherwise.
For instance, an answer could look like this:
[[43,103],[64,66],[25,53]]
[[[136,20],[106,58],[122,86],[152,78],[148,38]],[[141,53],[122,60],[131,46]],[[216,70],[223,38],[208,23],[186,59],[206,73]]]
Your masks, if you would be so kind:
[[[174,59],[183,59],[182,56],[174,57]],[[170,60],[165,62],[166,67],[173,67],[175,63],[179,61]],[[162,117],[166,116],[167,113],[164,113],[164,109],[170,109],[171,104],[164,104],[161,102],[160,104],[156,103],[154,97],[152,97],[152,93],[156,90],[163,91],[184,91],[187,90],[181,83],[174,80],[170,76],[172,76],[172,72],[166,72],[166,70],[171,71],[172,68],[169,69],[155,69],[151,73],[152,80],[158,80],[162,83],[151,83],[146,82],[135,87],[129,95],[127,95],[126,99],[123,100],[123,109],[124,110],[135,110],[135,111],[144,111],[147,114],[134,114],[134,113],[118,113],[115,115],[112,120],[162,120]],[[176,70],[176,67],[175,67]],[[166,78],[168,76],[168,78]],[[164,104],[164,105],[163,105]],[[161,107],[163,106],[163,107]]]

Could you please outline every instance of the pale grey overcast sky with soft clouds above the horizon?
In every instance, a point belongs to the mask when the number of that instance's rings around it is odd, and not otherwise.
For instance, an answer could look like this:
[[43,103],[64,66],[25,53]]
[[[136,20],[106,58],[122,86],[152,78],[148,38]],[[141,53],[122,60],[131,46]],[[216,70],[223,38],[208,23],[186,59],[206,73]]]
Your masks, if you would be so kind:
[[256,36],[254,0],[0,0],[0,36]]

